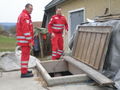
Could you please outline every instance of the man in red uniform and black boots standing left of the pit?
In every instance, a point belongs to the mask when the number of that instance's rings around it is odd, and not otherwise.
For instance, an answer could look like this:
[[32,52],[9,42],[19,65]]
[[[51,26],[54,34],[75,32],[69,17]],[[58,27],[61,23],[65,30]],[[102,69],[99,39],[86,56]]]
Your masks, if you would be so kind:
[[21,46],[21,78],[33,77],[32,71],[28,71],[28,62],[30,57],[30,47],[34,44],[33,41],[33,25],[30,14],[33,6],[26,4],[25,9],[18,17],[16,37],[17,44]]

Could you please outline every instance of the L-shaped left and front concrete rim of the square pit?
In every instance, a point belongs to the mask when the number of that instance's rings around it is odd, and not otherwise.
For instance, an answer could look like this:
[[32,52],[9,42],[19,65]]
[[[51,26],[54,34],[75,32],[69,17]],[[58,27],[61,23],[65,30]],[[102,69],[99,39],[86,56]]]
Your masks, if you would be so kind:
[[39,70],[39,72],[42,74],[48,86],[83,82],[83,81],[89,80],[86,74],[78,74],[78,75],[51,78],[51,76],[47,73],[47,71],[44,69],[44,67],[40,64],[39,61],[36,61],[36,67]]

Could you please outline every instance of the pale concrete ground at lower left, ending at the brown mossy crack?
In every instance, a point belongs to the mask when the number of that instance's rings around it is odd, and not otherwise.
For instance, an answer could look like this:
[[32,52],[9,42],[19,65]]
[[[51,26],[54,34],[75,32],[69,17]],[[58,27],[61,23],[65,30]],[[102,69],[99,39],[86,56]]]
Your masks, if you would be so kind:
[[3,72],[0,77],[0,90],[46,90],[41,83],[33,78],[20,78],[20,72]]

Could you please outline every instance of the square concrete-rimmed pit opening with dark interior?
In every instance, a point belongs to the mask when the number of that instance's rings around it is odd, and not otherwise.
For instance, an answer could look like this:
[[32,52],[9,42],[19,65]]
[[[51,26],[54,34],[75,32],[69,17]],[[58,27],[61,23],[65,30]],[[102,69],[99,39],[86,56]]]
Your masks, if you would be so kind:
[[89,80],[82,70],[64,60],[37,62],[37,69],[48,86]]

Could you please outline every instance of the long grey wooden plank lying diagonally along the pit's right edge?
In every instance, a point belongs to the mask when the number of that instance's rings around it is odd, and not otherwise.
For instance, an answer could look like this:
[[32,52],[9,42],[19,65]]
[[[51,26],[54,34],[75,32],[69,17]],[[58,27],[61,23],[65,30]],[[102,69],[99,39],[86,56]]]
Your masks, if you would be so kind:
[[101,73],[92,69],[91,67],[85,65],[84,63],[81,63],[73,59],[70,56],[64,56],[63,58],[65,59],[65,61],[83,70],[90,78],[95,80],[100,85],[113,85],[114,84],[114,82],[111,79],[107,78],[106,76],[102,75]]

